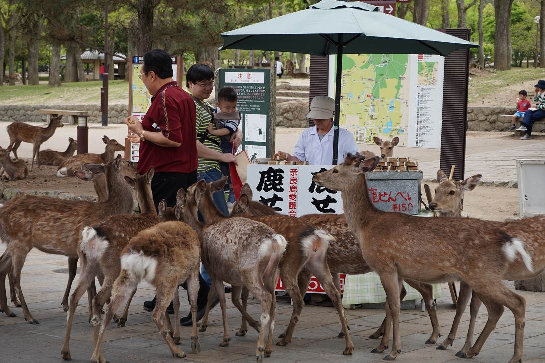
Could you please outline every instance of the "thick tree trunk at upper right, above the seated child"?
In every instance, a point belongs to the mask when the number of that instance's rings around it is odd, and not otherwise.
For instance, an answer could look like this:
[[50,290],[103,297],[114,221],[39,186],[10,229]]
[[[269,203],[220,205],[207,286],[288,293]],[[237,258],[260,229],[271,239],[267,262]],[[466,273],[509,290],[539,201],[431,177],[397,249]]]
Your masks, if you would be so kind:
[[513,0],[494,0],[496,31],[494,37],[494,69],[511,69],[511,5]]

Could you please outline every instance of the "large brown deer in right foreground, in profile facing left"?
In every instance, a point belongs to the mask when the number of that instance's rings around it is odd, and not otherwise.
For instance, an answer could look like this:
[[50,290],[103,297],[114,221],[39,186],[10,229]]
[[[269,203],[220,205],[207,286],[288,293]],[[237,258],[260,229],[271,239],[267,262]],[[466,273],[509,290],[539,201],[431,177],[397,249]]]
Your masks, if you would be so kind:
[[[313,181],[351,196],[343,198],[348,226],[360,242],[363,257],[380,276],[387,310],[392,316],[392,350],[384,359],[393,360],[401,353],[399,279],[421,282],[460,279],[479,294],[488,310],[488,320],[479,338],[460,356],[470,358],[480,352],[506,306],[515,321],[514,351],[509,363],[522,360],[525,299],[505,287],[501,277],[508,262],[518,260],[528,271],[534,271],[523,242],[487,221],[422,218],[378,210],[367,194],[365,179],[365,174],[373,171],[378,162],[377,156],[365,159],[359,153],[348,154],[342,164],[317,173]],[[385,223],[390,228],[376,233]],[[417,237],[415,231],[419,231]]]

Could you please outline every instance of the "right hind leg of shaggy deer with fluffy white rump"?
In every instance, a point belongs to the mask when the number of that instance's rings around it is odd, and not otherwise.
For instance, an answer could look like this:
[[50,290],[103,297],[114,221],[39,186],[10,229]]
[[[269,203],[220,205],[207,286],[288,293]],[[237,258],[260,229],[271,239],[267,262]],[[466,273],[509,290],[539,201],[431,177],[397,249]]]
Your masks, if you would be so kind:
[[[176,346],[173,340],[173,332],[171,329],[168,329],[167,326],[167,320],[170,320],[168,318],[168,313],[166,312],[168,304],[170,304],[170,301],[173,299],[172,292],[174,289],[177,289],[178,286],[178,279],[169,279],[167,281],[161,281],[161,283],[156,286],[157,291],[157,303],[155,305],[155,308],[153,309],[152,319],[155,325],[157,325],[157,328],[159,329],[159,332],[161,333],[161,336],[165,339],[165,342],[168,345],[168,348],[170,349],[172,355],[177,356],[178,358],[183,358],[186,356],[186,354]],[[180,302],[178,298],[178,307],[180,307]],[[113,304],[113,302],[112,302]],[[174,302],[173,302],[174,304]],[[105,317],[106,318],[106,317]],[[178,324],[176,324],[178,325]],[[179,340],[179,337],[178,337]]]

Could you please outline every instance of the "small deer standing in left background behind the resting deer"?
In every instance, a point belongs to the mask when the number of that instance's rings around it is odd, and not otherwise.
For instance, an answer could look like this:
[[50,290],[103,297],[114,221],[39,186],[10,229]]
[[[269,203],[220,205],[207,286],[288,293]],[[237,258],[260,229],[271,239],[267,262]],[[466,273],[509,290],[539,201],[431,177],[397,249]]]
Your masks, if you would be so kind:
[[31,171],[34,167],[34,160],[38,168],[40,167],[40,146],[44,142],[50,139],[55,133],[57,128],[62,128],[64,124],[60,122],[63,116],[52,117],[49,121],[49,125],[46,128],[40,128],[39,126],[33,126],[24,122],[14,122],[8,125],[9,144],[13,147],[13,154],[15,159],[19,159],[17,156],[17,149],[21,145],[21,142],[28,142],[33,145],[32,147],[32,160]]

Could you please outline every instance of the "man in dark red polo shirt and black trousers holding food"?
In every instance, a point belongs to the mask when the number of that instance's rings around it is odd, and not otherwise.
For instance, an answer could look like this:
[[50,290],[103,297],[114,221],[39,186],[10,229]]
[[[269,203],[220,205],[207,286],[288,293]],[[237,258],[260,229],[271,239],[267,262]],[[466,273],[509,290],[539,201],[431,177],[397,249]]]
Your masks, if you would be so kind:
[[[140,142],[138,173],[155,168],[152,193],[155,208],[161,199],[176,204],[176,193],[197,181],[197,133],[195,103],[191,96],[173,80],[172,61],[167,52],[155,49],[144,54],[139,77],[153,95],[142,123],[134,116],[125,124],[134,132],[131,142]],[[181,285],[186,288],[185,284]],[[206,306],[209,286],[199,275],[197,310]],[[188,296],[189,299],[189,296]],[[145,310],[153,310],[155,301],[144,302]],[[172,311],[172,304],[169,306]]]

